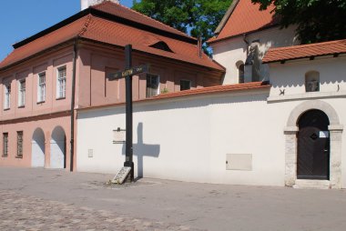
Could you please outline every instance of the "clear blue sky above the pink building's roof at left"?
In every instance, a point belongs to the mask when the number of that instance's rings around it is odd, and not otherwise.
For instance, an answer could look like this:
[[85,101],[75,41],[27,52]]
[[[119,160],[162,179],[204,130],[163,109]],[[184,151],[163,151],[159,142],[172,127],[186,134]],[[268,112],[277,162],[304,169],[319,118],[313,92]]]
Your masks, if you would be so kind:
[[[130,7],[132,0],[120,0]],[[80,0],[0,0],[0,60],[12,45],[80,11]]]

